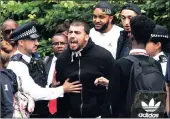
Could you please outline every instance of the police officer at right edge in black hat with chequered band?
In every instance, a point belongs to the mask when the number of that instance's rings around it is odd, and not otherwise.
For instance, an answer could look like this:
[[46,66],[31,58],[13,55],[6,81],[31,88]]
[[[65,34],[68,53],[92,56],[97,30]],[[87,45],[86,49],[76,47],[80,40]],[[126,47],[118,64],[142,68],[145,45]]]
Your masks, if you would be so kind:
[[168,29],[164,26],[156,25],[151,34],[151,39],[146,45],[147,53],[161,63],[164,76],[166,73],[166,53],[168,52],[169,41]]

